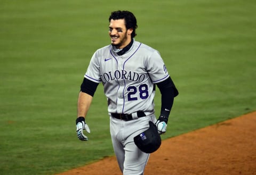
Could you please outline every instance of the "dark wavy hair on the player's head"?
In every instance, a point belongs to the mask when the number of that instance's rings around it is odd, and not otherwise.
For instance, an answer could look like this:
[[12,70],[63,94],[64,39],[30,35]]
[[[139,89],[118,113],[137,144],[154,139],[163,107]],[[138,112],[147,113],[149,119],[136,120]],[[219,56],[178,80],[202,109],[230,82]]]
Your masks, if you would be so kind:
[[124,19],[126,29],[133,29],[131,34],[132,38],[134,38],[137,35],[135,32],[135,30],[138,27],[137,20],[132,12],[121,11],[121,10],[114,11],[114,12],[111,12],[111,15],[109,16],[109,19],[108,19],[109,22],[111,21],[111,19],[113,20]]

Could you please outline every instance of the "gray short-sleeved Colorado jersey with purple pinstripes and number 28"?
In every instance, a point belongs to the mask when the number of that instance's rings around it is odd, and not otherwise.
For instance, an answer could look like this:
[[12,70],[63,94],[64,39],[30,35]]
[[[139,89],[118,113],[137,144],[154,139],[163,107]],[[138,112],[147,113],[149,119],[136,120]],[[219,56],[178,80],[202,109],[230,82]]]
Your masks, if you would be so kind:
[[102,82],[109,113],[127,114],[154,111],[154,84],[168,77],[159,52],[135,40],[121,56],[111,45],[98,49],[85,73],[85,78]]

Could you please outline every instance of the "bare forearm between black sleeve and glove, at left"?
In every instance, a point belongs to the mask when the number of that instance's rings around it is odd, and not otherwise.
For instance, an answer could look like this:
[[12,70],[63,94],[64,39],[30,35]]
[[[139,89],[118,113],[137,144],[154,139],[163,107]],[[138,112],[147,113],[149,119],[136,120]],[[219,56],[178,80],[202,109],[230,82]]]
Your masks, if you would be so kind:
[[92,96],[80,91],[77,102],[77,117],[86,116],[92,103]]

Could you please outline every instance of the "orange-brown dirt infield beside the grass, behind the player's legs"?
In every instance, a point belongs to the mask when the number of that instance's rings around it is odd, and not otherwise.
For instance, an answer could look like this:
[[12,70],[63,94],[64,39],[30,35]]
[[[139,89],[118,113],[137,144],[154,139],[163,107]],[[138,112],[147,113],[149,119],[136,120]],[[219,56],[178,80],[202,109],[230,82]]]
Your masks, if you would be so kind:
[[[57,175],[121,175],[107,157]],[[256,112],[162,142],[150,155],[145,175],[256,174]]]

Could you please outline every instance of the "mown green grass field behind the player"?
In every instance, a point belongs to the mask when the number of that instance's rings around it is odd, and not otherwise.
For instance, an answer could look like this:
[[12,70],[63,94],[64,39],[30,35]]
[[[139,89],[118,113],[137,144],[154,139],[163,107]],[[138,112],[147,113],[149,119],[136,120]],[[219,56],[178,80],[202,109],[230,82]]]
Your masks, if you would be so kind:
[[[108,16],[130,10],[136,40],[161,53],[180,95],[170,138],[256,110],[255,1],[0,2],[0,174],[55,174],[114,155],[107,102],[97,89],[76,136],[76,102]],[[155,98],[159,113],[159,91]]]

